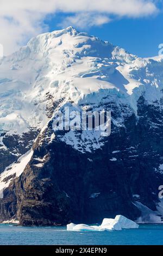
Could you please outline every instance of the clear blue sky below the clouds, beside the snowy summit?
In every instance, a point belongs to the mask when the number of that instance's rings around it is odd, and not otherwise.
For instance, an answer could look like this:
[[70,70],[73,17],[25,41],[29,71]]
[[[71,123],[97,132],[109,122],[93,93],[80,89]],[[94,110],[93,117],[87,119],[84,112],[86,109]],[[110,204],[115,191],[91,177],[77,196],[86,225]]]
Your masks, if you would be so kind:
[[[59,21],[64,19],[63,14],[57,14],[45,22],[49,25],[49,31],[59,26]],[[67,23],[67,26],[71,23]],[[102,26],[91,28],[78,28],[79,31],[86,31],[102,40],[109,41],[114,45],[125,48],[128,52],[139,57],[152,57],[158,55],[159,44],[163,44],[163,13],[140,19],[117,19]]]

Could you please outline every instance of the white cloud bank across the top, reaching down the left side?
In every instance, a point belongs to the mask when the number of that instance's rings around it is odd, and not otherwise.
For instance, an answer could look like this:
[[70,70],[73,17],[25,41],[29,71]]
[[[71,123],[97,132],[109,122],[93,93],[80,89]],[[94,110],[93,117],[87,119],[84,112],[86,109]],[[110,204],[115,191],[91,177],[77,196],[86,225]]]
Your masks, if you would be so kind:
[[155,14],[154,0],[0,0],[0,43],[9,54],[30,37],[45,32],[46,15],[65,13],[64,26],[101,26],[115,17],[144,17]]

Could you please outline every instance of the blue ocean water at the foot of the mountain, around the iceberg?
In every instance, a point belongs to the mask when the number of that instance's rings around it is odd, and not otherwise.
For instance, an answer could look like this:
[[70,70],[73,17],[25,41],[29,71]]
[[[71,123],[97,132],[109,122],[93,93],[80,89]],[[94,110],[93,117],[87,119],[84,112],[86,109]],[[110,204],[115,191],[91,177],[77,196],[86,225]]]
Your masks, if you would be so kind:
[[163,245],[163,225],[122,231],[66,231],[66,227],[0,225],[0,245]]

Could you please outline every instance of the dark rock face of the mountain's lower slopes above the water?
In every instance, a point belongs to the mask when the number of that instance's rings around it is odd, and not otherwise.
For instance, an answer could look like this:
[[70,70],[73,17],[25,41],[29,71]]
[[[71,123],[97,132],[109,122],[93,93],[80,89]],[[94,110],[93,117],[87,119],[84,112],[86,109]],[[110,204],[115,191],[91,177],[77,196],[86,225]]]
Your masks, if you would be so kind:
[[161,102],[147,105],[143,97],[137,107],[137,117],[127,115],[122,127],[112,124],[104,146],[92,153],[83,154],[59,139],[47,143],[52,133],[49,122],[33,145],[26,169],[4,190],[1,220],[63,225],[101,222],[116,214],[135,220],[141,214],[135,200],[155,211],[158,187],[163,184],[158,171],[163,163],[163,108]]

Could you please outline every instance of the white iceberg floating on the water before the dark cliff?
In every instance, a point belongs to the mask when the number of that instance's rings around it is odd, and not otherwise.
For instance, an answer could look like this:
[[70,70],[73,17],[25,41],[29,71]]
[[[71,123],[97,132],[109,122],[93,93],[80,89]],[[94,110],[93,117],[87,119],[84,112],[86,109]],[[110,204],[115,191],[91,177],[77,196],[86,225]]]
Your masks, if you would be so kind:
[[74,224],[67,225],[68,231],[120,231],[122,229],[139,228],[139,225],[128,218],[117,215],[115,218],[104,218],[101,225]]

